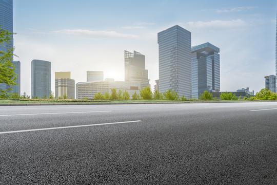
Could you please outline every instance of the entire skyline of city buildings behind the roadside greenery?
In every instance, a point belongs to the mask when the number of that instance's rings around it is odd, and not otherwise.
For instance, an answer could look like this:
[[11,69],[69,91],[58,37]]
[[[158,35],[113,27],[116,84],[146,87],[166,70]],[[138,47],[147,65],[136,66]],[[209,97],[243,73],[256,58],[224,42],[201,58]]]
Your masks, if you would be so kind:
[[[13,32],[12,1],[0,0],[1,29]],[[3,15],[3,16],[2,16]],[[277,17],[276,17],[276,74],[265,77],[265,87],[273,93],[277,91]],[[175,25],[157,33],[159,44],[159,79],[155,80],[154,90],[164,93],[171,89],[177,95],[186,98],[198,98],[204,91],[220,93],[220,48],[209,42],[191,47],[191,32]],[[7,51],[10,44],[0,46]],[[17,86],[8,93],[21,94],[21,62],[13,61],[17,75]],[[145,55],[133,51],[124,51],[125,81],[106,78],[104,71],[87,71],[87,81],[71,79],[71,72],[55,72],[55,97],[89,98],[94,94],[111,93],[111,88],[126,90],[130,95],[144,87],[150,87],[148,70],[145,69]],[[7,84],[0,84],[0,89],[8,89]],[[236,90],[239,95],[254,95],[249,87]],[[51,62],[33,60],[31,62],[31,97],[49,97],[51,94]]]

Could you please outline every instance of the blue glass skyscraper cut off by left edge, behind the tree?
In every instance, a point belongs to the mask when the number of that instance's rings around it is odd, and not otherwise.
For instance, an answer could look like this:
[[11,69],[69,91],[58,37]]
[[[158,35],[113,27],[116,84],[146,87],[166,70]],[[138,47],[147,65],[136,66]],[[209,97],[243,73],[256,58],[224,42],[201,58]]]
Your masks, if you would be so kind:
[[[0,29],[13,32],[13,19],[12,19],[12,0],[0,0]],[[3,43],[4,46],[0,46],[1,51],[7,51],[13,48],[13,36],[9,44]]]

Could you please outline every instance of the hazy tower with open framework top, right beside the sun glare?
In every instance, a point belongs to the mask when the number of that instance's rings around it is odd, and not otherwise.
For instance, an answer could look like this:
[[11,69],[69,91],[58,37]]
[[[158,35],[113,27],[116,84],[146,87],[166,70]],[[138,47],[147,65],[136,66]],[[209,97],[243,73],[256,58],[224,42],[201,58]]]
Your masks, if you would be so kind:
[[141,88],[148,87],[148,70],[145,69],[145,55],[134,51],[124,51],[125,81],[140,82]]

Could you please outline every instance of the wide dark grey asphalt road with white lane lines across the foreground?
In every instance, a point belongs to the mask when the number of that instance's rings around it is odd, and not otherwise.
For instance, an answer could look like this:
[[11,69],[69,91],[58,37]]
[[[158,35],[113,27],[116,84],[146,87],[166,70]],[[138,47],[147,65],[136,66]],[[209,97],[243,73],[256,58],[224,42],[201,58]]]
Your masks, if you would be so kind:
[[0,183],[277,184],[277,102],[1,106]]

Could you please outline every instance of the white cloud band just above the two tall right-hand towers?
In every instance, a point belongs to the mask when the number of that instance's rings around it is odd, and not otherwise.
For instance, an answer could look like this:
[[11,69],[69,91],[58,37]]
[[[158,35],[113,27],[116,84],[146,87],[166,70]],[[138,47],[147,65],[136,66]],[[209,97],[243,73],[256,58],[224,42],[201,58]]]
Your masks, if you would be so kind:
[[246,22],[238,19],[238,20],[232,20],[232,21],[220,21],[220,20],[215,20],[215,21],[210,21],[210,22],[202,22],[202,21],[197,21],[197,22],[187,22],[187,25],[189,27],[194,27],[194,28],[239,28],[239,27],[245,27]]

